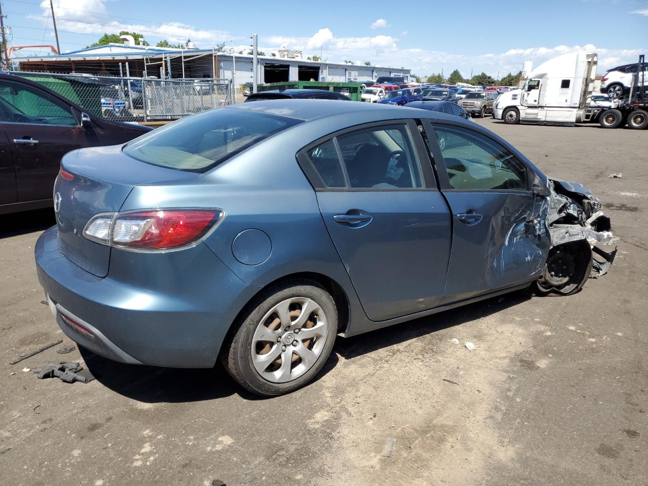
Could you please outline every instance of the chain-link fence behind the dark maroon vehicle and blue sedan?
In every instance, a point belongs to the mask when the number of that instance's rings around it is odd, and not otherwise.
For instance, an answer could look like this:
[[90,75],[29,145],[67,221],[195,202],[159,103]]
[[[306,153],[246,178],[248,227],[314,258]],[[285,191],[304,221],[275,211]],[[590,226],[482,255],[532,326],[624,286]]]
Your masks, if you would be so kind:
[[176,120],[232,102],[229,79],[123,78],[27,71],[12,71],[11,74],[49,87],[106,120]]

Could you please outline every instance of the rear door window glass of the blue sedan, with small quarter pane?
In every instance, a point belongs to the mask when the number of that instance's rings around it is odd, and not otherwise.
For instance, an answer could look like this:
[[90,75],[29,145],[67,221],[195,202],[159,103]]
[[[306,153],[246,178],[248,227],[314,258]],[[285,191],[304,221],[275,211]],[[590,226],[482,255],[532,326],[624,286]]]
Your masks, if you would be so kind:
[[[335,142],[340,148],[341,165],[334,150]],[[380,190],[423,187],[419,159],[410,130],[404,124],[340,135],[311,149],[308,158],[330,188]]]

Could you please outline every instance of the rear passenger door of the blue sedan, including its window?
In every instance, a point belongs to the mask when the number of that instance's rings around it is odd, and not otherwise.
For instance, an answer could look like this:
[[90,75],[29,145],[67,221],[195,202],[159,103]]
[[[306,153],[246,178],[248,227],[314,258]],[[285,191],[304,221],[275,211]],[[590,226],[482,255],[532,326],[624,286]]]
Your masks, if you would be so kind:
[[367,317],[384,321],[438,305],[450,214],[416,124],[345,130],[307,146],[298,160]]

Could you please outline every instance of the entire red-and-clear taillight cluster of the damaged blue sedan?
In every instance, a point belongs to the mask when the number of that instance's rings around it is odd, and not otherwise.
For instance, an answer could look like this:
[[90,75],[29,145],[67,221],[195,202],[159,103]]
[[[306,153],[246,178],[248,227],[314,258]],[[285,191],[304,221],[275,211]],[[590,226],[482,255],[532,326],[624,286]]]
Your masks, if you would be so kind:
[[148,209],[97,214],[84,236],[97,243],[135,251],[187,248],[220,222],[220,209]]

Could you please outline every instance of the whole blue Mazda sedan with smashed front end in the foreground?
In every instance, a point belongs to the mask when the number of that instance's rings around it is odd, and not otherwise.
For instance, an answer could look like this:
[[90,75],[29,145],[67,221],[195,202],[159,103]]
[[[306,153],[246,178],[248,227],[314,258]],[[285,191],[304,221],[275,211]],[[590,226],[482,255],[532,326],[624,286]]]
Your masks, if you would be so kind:
[[[220,358],[280,395],[338,334],[529,286],[578,292],[590,242],[612,238],[600,207],[456,116],[266,100],[67,154],[36,264],[80,346],[130,364]],[[595,251],[605,273],[613,254]]]

